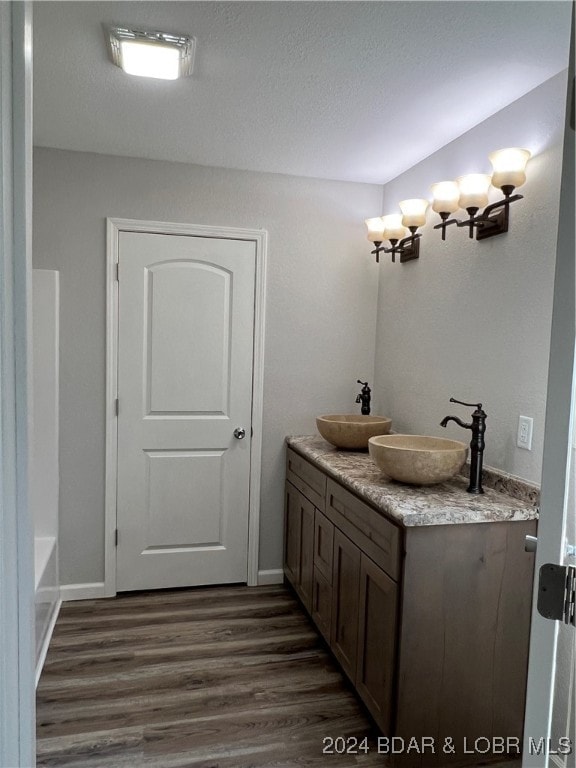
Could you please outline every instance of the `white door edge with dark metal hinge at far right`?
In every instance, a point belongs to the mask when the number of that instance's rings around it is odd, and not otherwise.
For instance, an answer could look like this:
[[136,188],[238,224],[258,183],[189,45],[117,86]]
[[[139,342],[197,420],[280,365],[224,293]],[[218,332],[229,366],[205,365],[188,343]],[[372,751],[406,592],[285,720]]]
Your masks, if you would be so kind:
[[[574,12],[572,18],[574,25]],[[576,270],[574,256],[574,28],[548,374],[535,596],[542,565],[574,566],[576,544]],[[576,627],[532,611],[524,768],[575,768]]]

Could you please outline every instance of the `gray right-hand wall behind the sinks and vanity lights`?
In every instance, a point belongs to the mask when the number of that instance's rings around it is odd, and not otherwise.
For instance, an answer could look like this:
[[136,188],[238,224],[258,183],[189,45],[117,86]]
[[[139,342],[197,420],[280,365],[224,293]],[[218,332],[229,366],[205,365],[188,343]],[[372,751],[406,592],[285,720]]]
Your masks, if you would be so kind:
[[[488,153],[533,153],[525,199],[511,209],[507,234],[477,242],[448,228],[442,242],[429,212],[418,261],[381,266],[375,402],[398,432],[468,442],[443,416],[481,401],[488,414],[487,464],[540,481],[552,292],[558,227],[566,73],[428,157],[384,187],[383,213],[398,201],[428,197],[435,181],[490,172]],[[495,195],[498,197],[498,195]],[[462,213],[462,212],[460,212]],[[464,213],[465,216],[465,213]],[[518,416],[534,419],[531,452],[516,447]]]

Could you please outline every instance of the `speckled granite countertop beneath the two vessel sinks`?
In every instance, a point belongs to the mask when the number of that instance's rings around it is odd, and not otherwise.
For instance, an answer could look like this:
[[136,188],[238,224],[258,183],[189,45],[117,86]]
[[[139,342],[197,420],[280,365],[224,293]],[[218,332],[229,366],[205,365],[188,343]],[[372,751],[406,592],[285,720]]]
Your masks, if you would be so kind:
[[386,477],[367,452],[341,451],[321,437],[287,437],[286,443],[327,475],[406,527],[534,520],[537,486],[497,470],[484,472],[484,494],[466,492],[468,480],[412,486]]

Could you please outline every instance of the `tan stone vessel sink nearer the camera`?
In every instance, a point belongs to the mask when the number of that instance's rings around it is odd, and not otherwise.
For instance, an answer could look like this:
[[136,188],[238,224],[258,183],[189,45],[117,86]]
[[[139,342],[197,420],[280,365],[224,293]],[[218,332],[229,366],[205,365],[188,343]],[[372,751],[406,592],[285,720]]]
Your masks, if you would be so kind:
[[412,485],[449,480],[462,469],[468,455],[468,446],[459,440],[424,435],[371,437],[368,450],[388,477]]

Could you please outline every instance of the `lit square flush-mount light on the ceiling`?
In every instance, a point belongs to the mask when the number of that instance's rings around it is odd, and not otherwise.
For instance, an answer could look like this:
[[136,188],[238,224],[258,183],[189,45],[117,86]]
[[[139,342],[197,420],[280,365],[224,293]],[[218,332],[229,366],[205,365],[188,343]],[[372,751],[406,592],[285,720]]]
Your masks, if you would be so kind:
[[177,80],[192,74],[196,41],[185,35],[110,27],[112,61],[129,75]]

